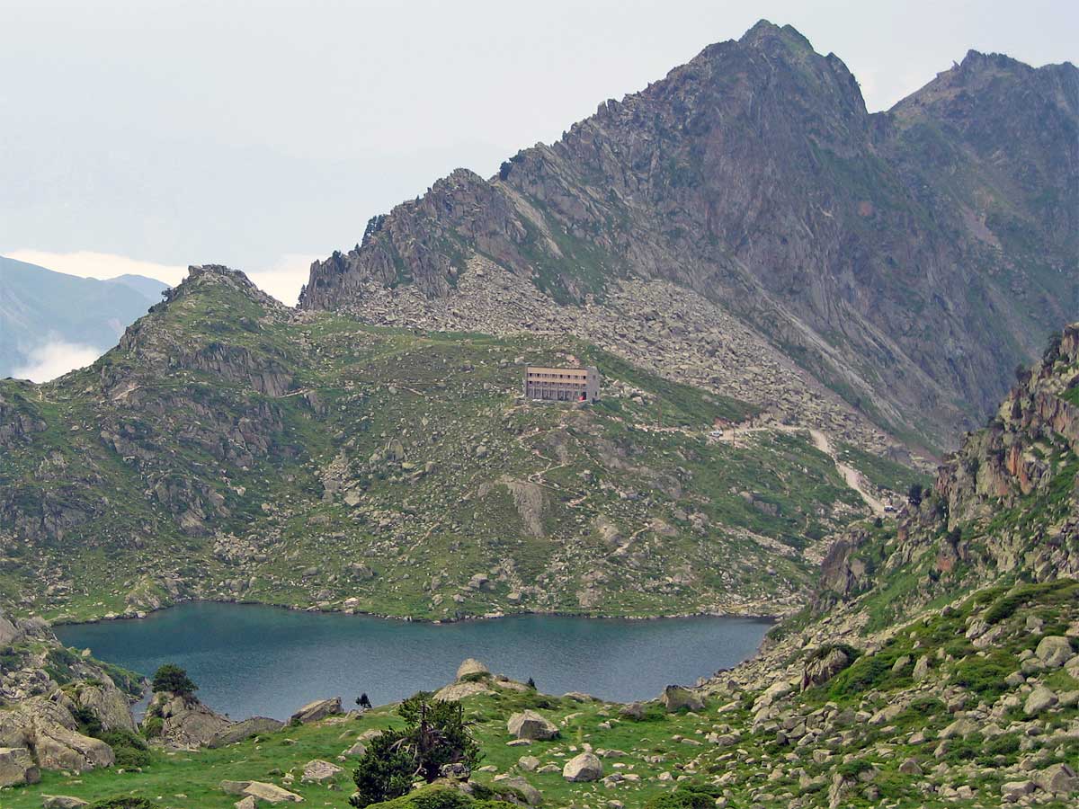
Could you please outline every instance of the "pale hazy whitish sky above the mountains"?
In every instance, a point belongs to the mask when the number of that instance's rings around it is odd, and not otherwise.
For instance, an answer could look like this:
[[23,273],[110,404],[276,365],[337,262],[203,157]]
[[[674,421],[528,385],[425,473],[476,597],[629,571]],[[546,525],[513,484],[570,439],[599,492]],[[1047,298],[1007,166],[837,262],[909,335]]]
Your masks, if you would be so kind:
[[0,0],[0,253],[291,303],[314,257],[759,18],[886,109],[968,49],[1079,60],[1079,2]]

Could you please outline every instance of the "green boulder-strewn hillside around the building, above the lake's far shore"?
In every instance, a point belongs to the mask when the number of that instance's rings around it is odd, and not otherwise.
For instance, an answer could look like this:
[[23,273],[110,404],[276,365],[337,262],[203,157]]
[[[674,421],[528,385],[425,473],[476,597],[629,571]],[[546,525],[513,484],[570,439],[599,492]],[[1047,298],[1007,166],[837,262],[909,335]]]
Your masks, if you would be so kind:
[[[4,453],[0,485],[31,513],[55,495],[91,515],[8,544],[0,591],[19,609],[84,619],[142,608],[167,602],[163,577],[200,598],[352,599],[345,606],[429,618],[737,609],[803,587],[797,549],[861,509],[807,437],[709,443],[714,419],[751,408],[575,340],[415,333],[328,314],[296,323],[218,285],[178,296],[133,342],[49,385],[0,383],[47,425]],[[290,393],[190,360],[215,352],[246,353]],[[600,404],[516,398],[522,362],[569,354],[600,367]],[[642,428],[659,423],[684,429]],[[105,434],[127,443],[113,450]],[[326,495],[334,465],[340,489]],[[534,502],[522,505],[507,481],[535,484]],[[179,530],[182,497],[170,513],[161,493],[177,489],[209,512],[205,535]],[[604,521],[617,538],[601,535]],[[229,547],[215,547],[215,532]],[[773,540],[780,553],[762,545]],[[43,575],[21,576],[28,567]],[[421,580],[416,570],[443,573]],[[591,570],[598,578],[583,580]],[[463,590],[477,573],[492,589]],[[529,582],[538,589],[508,598]]]

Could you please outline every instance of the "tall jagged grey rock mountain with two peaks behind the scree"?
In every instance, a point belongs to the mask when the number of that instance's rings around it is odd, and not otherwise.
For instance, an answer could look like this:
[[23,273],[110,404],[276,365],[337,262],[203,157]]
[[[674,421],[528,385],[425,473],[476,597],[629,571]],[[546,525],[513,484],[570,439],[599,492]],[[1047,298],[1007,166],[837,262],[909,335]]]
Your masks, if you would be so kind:
[[1075,314],[1076,76],[972,54],[871,115],[838,58],[761,23],[497,177],[459,169],[371,220],[301,306],[363,315],[371,282],[453,299],[476,256],[551,305],[665,279],[943,443]]

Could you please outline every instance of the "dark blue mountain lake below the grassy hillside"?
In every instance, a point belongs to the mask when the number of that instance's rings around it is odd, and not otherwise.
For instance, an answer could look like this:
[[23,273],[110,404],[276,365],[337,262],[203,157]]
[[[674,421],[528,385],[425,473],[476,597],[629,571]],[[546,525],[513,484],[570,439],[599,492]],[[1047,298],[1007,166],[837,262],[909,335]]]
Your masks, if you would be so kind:
[[669,683],[692,684],[750,657],[769,626],[759,618],[558,616],[434,625],[192,603],[56,633],[68,646],[144,674],[178,663],[200,698],[233,718],[287,718],[322,697],[340,696],[351,707],[361,691],[381,704],[436,689],[466,657],[515,680],[533,677],[547,694],[651,699]]

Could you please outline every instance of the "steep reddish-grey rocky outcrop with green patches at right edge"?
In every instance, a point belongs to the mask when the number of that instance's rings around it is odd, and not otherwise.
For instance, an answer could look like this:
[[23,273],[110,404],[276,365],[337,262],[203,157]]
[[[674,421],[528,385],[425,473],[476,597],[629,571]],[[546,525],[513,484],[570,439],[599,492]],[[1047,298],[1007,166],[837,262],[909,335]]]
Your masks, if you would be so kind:
[[1055,335],[983,429],[965,437],[894,529],[850,532],[830,549],[819,609],[848,602],[872,620],[944,593],[1024,577],[1079,578],[1079,324]]

